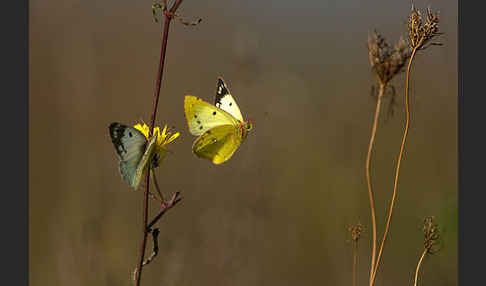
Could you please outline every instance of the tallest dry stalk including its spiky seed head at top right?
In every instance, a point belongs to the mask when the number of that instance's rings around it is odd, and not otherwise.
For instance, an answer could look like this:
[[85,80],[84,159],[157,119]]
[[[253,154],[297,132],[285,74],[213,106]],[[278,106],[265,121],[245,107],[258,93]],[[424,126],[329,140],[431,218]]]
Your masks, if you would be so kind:
[[[407,140],[408,129],[410,127],[410,105],[409,105],[409,83],[410,83],[410,71],[412,67],[413,60],[415,58],[415,54],[419,50],[423,50],[430,45],[435,45],[435,43],[431,43],[431,40],[439,35],[439,16],[438,14],[434,14],[431,12],[430,8],[426,10],[425,13],[425,22],[422,19],[422,15],[412,4],[412,10],[408,17],[408,45],[409,49],[411,50],[411,55],[408,61],[407,67],[407,77],[406,77],[406,85],[405,85],[405,111],[406,111],[406,121],[405,127],[403,131],[402,137],[402,144],[400,146],[400,152],[398,154],[397,166],[395,171],[395,180],[393,185],[393,195],[392,200],[390,202],[390,207],[388,211],[388,218],[386,221],[385,232],[383,233],[383,238],[381,240],[380,250],[378,252],[378,256],[376,258],[374,264],[373,274],[370,278],[370,286],[374,285],[374,281],[376,278],[376,273],[378,271],[380,260],[383,254],[383,248],[385,245],[385,241],[388,235],[388,231],[390,230],[390,223],[393,214],[393,207],[395,205],[396,196],[397,196],[397,188],[398,188],[398,177],[400,174],[400,164],[403,158],[403,154],[405,152],[405,143]],[[429,45],[428,45],[429,44]]]

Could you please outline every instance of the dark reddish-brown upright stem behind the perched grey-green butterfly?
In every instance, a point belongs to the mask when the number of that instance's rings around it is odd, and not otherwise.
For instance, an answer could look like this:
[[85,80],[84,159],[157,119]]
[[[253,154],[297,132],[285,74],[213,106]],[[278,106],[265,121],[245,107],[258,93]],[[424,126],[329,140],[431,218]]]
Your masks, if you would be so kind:
[[[156,88],[154,91],[154,103],[153,103],[153,109],[152,109],[152,117],[150,119],[150,135],[153,134],[153,129],[155,125],[155,116],[157,114],[157,105],[159,103],[159,97],[160,97],[160,87],[162,83],[162,75],[164,72],[164,63],[165,63],[165,54],[167,50],[167,39],[169,36],[169,26],[170,22],[173,19],[173,14],[181,5],[182,0],[177,0],[174,2],[174,5],[170,8],[169,11],[167,11],[167,7],[165,6],[163,8],[163,14],[165,17],[165,23],[164,23],[164,31],[162,34],[162,47],[160,51],[160,63],[159,63],[159,71],[158,71],[158,77],[157,77],[157,82],[156,82]],[[147,172],[146,176],[146,187],[145,187],[145,193],[144,193],[144,202],[143,202],[143,238],[142,238],[142,243],[140,246],[140,258],[139,258],[139,263],[137,269],[139,269],[136,272],[136,277],[135,277],[135,286],[140,285],[140,281],[142,278],[142,270],[143,270],[143,262],[144,262],[144,256],[145,256],[145,247],[147,244],[147,235],[148,235],[148,202],[149,202],[149,187],[150,187],[150,172]],[[167,210],[168,208],[164,208]],[[164,212],[165,212],[164,210]]]

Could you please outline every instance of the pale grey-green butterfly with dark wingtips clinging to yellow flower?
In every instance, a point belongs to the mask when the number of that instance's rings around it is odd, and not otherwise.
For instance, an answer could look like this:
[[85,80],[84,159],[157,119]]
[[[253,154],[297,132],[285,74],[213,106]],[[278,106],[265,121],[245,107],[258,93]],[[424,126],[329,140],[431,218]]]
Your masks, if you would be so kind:
[[158,161],[157,156],[154,156],[157,136],[147,141],[139,130],[117,122],[110,124],[110,136],[120,157],[120,173],[123,180],[137,189],[150,159],[154,163]]

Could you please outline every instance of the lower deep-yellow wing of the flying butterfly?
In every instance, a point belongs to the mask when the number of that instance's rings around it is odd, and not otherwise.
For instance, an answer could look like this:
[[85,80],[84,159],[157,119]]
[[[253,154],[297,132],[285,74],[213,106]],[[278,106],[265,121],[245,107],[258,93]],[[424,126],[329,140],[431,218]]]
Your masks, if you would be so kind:
[[241,144],[241,134],[234,125],[214,127],[199,136],[192,145],[192,151],[200,158],[206,158],[218,165],[227,161]]

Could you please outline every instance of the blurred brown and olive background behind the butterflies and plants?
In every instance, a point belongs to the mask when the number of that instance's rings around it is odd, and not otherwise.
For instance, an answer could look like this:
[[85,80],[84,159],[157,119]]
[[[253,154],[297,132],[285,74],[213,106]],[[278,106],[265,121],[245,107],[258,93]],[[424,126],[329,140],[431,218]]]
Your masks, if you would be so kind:
[[[410,285],[422,220],[442,227],[421,284],[457,285],[457,1],[439,10],[443,46],[421,52],[412,125],[377,285]],[[142,192],[118,173],[108,125],[149,120],[162,27],[151,0],[30,1],[30,283],[131,285]],[[364,163],[375,108],[366,41],[406,33],[410,1],[191,1],[173,23],[157,114],[181,137],[157,170],[183,201],[158,224],[142,285],[350,285],[348,227],[361,222],[358,283],[371,225]],[[254,130],[221,166],[191,153],[183,97],[212,101],[223,76]],[[404,119],[385,100],[374,153],[384,228]],[[152,204],[151,213],[157,212]],[[149,243],[148,250],[151,244]],[[148,252],[147,252],[148,253]]]

